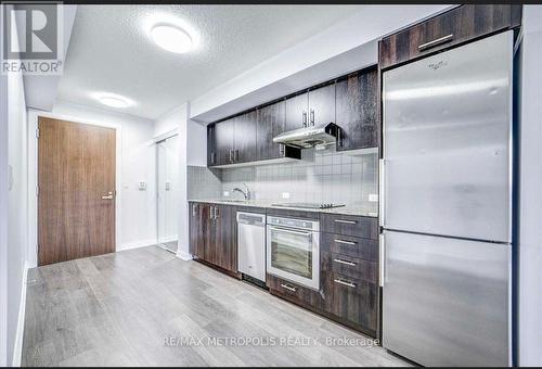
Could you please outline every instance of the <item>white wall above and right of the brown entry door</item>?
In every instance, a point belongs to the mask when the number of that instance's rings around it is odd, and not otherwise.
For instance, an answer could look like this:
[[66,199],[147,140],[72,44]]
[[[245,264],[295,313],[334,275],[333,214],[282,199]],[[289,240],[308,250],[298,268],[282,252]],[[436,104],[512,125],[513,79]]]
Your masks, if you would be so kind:
[[[40,114],[117,128],[117,251],[156,243],[154,122],[63,101]],[[146,191],[138,189],[140,181]]]

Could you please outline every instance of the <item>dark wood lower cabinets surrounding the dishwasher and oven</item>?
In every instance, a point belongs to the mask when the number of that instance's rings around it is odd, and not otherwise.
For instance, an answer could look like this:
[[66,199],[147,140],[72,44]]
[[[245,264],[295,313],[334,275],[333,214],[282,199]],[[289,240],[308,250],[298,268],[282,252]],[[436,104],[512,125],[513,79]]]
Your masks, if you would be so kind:
[[[190,252],[199,262],[236,277],[240,276],[237,211],[256,209],[211,203],[190,203]],[[378,244],[376,240],[370,239],[373,234],[372,227],[360,227],[365,226],[365,222],[373,225],[372,219],[291,209],[259,208],[258,211],[278,216],[315,219],[320,217],[321,225],[328,225],[327,229],[359,236],[320,233],[318,291],[270,273],[267,275],[266,282],[273,295],[377,338]],[[327,221],[322,221],[325,217]],[[349,222],[338,222],[339,228],[336,228],[334,220]],[[356,222],[352,222],[354,220]]]

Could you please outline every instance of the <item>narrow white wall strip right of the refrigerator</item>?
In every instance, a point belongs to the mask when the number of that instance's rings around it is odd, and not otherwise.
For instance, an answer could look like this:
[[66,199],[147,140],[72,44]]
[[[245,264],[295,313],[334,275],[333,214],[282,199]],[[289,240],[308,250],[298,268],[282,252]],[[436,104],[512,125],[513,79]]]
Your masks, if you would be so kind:
[[519,365],[542,365],[542,7],[524,5]]

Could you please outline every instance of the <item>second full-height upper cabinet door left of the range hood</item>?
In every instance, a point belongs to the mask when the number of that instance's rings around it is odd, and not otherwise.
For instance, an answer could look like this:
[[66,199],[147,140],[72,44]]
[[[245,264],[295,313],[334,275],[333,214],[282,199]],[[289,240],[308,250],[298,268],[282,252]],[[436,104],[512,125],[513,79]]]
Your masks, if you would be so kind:
[[238,115],[234,118],[235,163],[256,161],[256,125],[258,113],[256,110]]

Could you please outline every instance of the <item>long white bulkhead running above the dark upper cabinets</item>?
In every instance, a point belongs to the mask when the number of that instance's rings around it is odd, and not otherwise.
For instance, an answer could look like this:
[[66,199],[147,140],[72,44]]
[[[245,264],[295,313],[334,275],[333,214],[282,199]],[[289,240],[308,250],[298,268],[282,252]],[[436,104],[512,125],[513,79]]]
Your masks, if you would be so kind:
[[[264,89],[279,80],[287,80],[289,76],[310,69],[326,60],[372,42],[386,34],[390,34],[398,28],[417,22],[447,8],[449,5],[363,5],[361,11],[352,14],[347,20],[284,50],[254,68],[194,99],[191,101],[191,117],[199,119],[205,113],[219,109],[230,101],[241,101],[243,97]],[[371,55],[374,54],[373,63],[375,63],[376,53],[373,49],[370,50]],[[344,63],[340,60],[337,60],[337,62]],[[315,69],[312,73],[325,74],[330,73],[330,71],[333,71],[333,68],[326,66],[323,71]],[[344,73],[348,72],[350,71],[344,71]],[[324,81],[336,77],[336,75],[313,76],[313,81],[315,82],[319,77],[319,81]],[[302,80],[308,81],[309,79],[305,76]],[[289,84],[296,85],[297,80],[289,81]],[[287,86],[287,84],[283,84],[282,92],[283,94],[294,92],[306,86]],[[285,92],[288,88],[293,88],[294,90]],[[276,98],[279,97],[276,96]],[[261,101],[260,103],[266,101]],[[242,103],[240,102],[240,104]],[[244,107],[247,109],[249,106]]]

